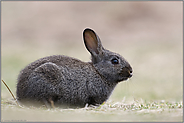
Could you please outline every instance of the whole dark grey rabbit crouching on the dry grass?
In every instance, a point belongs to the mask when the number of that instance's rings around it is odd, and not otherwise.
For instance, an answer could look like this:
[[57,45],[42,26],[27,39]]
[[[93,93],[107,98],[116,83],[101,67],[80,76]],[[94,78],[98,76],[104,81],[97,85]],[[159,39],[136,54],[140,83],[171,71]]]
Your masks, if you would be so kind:
[[47,106],[84,107],[106,101],[120,81],[132,77],[130,64],[119,54],[106,50],[91,29],[83,32],[92,62],[55,55],[36,60],[19,74],[19,102]]

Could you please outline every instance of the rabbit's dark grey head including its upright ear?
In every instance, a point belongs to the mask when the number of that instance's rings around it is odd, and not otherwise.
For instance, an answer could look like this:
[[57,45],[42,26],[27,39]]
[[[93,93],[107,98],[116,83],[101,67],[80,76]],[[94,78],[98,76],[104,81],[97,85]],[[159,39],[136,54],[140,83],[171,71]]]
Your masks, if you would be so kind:
[[93,30],[85,29],[83,38],[91,53],[93,66],[100,76],[109,82],[120,82],[132,77],[130,64],[121,55],[106,50]]

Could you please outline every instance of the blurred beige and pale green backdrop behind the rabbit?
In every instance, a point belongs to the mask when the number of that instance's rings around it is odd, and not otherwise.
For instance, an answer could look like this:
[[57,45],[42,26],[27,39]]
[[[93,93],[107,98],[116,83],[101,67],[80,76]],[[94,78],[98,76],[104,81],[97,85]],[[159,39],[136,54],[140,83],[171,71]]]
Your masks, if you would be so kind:
[[[20,70],[39,58],[90,61],[82,38],[89,27],[133,67],[134,76],[109,100],[183,100],[182,1],[3,1],[1,7],[1,79],[14,94]],[[3,84],[1,97],[12,98]]]

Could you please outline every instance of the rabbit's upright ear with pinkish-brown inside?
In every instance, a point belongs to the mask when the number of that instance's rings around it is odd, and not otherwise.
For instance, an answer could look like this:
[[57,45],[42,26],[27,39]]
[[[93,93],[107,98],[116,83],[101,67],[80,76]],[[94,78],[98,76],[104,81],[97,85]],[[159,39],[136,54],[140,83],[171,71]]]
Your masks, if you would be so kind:
[[91,29],[85,29],[83,32],[84,43],[87,50],[93,55],[96,56],[102,53],[102,44],[98,35]]

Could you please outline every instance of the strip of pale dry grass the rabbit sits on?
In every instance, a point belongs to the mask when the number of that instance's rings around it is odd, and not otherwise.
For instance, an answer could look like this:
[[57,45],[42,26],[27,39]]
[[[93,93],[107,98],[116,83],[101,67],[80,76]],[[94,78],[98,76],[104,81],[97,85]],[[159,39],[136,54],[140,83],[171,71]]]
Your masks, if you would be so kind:
[[[124,100],[125,101],[125,100]],[[59,122],[59,121],[182,121],[182,102],[144,102],[133,101],[130,104],[122,102],[106,102],[99,107],[80,109],[47,109],[44,106],[18,107],[15,102],[2,100],[2,121],[28,122]],[[24,114],[24,116],[22,115]]]

